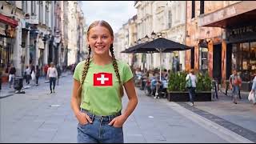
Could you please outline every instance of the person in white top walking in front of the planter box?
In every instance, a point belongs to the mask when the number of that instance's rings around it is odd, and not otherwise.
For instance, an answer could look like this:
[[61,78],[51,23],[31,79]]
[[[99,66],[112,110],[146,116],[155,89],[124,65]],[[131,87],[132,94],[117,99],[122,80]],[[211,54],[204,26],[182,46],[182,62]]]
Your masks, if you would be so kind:
[[190,106],[194,106],[195,89],[198,82],[197,77],[194,74],[194,69],[190,70],[190,74],[186,75],[186,88],[189,90]]

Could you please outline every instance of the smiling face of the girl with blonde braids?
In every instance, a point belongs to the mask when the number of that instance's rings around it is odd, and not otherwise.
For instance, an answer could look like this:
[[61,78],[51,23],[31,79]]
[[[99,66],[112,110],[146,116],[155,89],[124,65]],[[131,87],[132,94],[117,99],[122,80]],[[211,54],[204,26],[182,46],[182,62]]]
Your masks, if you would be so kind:
[[94,26],[90,29],[87,38],[87,43],[90,45],[94,54],[109,54],[110,45],[114,38],[111,37],[110,31],[104,26]]

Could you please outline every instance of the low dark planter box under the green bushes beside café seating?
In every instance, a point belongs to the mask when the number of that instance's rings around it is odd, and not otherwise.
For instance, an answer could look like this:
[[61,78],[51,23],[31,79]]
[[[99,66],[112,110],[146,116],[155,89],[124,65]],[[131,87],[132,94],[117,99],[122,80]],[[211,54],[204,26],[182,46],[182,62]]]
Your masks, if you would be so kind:
[[[167,97],[169,102],[190,102],[190,95],[188,91],[171,91],[168,92]],[[196,92],[194,102],[211,101],[211,92]]]

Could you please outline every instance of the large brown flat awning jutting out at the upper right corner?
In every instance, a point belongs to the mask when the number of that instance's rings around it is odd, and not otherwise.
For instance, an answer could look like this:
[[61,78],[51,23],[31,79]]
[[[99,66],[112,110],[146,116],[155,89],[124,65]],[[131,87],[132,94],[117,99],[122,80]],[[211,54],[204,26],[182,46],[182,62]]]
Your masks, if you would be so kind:
[[[223,9],[199,17],[198,26],[234,29],[242,26],[255,26],[256,1],[242,1]],[[245,9],[246,8],[246,9]]]

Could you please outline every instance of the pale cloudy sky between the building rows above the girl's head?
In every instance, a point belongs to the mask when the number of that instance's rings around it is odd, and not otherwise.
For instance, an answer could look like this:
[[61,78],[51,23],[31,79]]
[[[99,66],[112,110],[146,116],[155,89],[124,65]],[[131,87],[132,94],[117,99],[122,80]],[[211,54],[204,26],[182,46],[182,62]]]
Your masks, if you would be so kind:
[[88,26],[96,20],[105,20],[114,33],[137,14],[134,1],[82,1],[82,11]]

